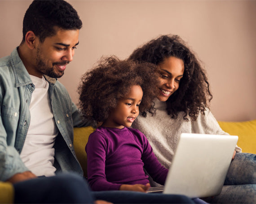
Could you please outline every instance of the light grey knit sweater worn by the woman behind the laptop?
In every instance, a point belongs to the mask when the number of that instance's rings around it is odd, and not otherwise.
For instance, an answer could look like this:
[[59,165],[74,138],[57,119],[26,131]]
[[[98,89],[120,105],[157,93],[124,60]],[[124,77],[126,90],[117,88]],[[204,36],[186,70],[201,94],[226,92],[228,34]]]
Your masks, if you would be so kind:
[[[183,112],[178,114],[177,119],[171,119],[166,111],[166,102],[160,102],[157,99],[154,107],[157,110],[153,117],[150,113],[147,114],[146,118],[139,115],[132,127],[145,134],[154,154],[165,168],[171,166],[172,157],[182,132],[229,135],[221,129],[209,110],[205,112],[205,115],[199,114],[196,121],[187,121],[183,119]],[[217,148],[215,150],[218,151]],[[235,150],[241,152],[239,147],[236,147]]]

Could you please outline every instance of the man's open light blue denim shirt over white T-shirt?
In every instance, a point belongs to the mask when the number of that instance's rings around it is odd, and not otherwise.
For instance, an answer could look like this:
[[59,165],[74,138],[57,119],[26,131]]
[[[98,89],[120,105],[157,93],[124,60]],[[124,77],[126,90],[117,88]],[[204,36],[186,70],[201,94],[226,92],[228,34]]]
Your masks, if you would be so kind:
[[[49,97],[53,116],[59,130],[55,139],[54,166],[57,172],[75,171],[83,174],[73,147],[73,127],[91,125],[82,121],[79,111],[65,89],[56,79],[49,82]],[[19,154],[30,124],[29,105],[35,85],[26,71],[17,48],[10,56],[0,59],[0,180],[27,171]]]

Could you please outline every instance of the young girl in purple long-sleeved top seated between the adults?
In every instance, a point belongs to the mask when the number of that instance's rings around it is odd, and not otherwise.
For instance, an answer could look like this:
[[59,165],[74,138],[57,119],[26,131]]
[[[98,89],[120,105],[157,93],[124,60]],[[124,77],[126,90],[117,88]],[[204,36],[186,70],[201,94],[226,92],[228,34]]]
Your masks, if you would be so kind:
[[[148,73],[148,76],[142,73]],[[154,112],[158,68],[112,57],[88,72],[80,85],[82,114],[102,125],[88,139],[88,183],[93,191],[145,192],[148,176],[164,185],[168,170],[154,156],[146,137],[129,128],[141,111]]]

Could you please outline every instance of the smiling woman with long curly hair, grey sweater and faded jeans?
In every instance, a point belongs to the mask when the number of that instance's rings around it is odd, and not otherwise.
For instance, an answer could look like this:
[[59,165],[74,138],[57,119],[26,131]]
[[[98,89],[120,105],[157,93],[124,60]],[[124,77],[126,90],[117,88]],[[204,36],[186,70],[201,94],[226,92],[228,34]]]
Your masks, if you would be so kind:
[[[133,51],[129,59],[157,64],[161,69],[156,112],[142,113],[132,127],[147,136],[163,166],[171,166],[181,132],[228,135],[209,111],[212,94],[205,71],[179,36],[153,39]],[[239,147],[235,151],[225,187],[220,195],[207,198],[207,202],[256,202],[256,156],[240,153]]]

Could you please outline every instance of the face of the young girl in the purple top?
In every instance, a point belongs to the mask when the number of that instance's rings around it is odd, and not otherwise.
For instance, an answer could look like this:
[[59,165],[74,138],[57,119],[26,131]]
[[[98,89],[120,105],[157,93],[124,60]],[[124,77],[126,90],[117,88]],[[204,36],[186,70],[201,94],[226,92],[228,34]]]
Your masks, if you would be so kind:
[[142,95],[143,92],[141,86],[133,85],[129,93],[119,100],[116,108],[112,110],[102,126],[119,129],[130,127],[132,122],[139,115],[139,105],[141,103]]

